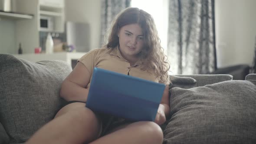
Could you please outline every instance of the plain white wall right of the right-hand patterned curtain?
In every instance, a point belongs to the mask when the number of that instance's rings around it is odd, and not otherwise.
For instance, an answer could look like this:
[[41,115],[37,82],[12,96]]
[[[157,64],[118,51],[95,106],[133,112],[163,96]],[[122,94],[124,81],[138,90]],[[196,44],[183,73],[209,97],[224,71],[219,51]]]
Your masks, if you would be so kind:
[[253,62],[256,0],[215,0],[217,67]]

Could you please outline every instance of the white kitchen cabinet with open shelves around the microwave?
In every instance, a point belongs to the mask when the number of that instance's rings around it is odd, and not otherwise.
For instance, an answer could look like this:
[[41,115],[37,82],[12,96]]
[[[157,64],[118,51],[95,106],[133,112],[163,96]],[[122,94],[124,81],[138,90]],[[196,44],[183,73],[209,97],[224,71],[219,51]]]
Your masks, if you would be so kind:
[[[23,53],[34,53],[40,46],[39,32],[64,32],[65,1],[64,0],[15,0],[16,13],[29,13],[32,19],[16,21],[16,48],[22,44]],[[52,20],[52,29],[41,28],[42,17]]]

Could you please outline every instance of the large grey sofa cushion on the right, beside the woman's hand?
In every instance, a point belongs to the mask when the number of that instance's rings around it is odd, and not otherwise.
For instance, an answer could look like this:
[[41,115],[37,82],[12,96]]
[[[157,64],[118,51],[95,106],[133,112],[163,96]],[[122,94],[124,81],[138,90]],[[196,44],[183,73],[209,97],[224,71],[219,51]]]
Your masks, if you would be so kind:
[[226,81],[170,89],[164,144],[256,143],[256,85]]

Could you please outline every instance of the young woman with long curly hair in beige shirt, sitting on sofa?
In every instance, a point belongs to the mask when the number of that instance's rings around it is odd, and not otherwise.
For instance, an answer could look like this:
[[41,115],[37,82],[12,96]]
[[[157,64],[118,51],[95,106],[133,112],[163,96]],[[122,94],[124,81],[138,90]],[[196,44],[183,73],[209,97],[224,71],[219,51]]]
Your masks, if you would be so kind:
[[[86,108],[93,68],[166,84],[154,122],[131,122]],[[78,60],[64,80],[60,97],[69,101],[27,144],[162,144],[159,125],[169,115],[168,69],[152,16],[127,8],[114,21],[108,43]]]

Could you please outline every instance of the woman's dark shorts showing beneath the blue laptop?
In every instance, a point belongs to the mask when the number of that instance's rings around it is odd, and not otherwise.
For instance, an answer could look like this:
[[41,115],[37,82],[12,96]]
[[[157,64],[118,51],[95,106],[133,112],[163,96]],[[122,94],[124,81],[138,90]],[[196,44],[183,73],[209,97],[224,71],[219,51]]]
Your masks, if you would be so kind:
[[[69,104],[75,103],[75,102],[85,103],[83,101],[67,101],[62,106],[62,108],[66,105],[69,105]],[[100,113],[100,112],[95,112],[94,111],[94,113],[102,121],[102,123],[101,123],[101,132],[100,132],[99,137],[104,136],[105,134],[108,134],[109,131],[111,131],[112,129],[114,129],[114,128],[120,126],[120,125],[128,124],[128,123],[133,122],[133,121],[128,121],[128,120],[125,120],[125,119],[122,119],[122,118],[117,118],[117,117],[114,117],[112,115],[103,114],[103,113]]]

